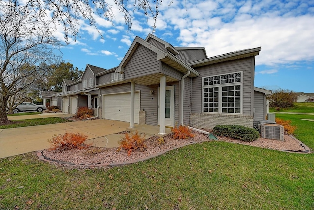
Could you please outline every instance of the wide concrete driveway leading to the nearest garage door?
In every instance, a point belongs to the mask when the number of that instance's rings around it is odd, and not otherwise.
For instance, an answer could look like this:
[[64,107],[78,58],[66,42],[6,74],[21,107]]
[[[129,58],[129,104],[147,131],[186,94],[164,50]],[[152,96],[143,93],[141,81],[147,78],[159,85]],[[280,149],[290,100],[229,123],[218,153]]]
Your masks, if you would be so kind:
[[50,144],[47,140],[52,139],[53,135],[71,132],[87,135],[88,143],[92,145],[105,144],[107,147],[117,147],[121,135],[115,133],[125,131],[129,125],[128,122],[97,119],[0,129],[0,158],[48,149]]

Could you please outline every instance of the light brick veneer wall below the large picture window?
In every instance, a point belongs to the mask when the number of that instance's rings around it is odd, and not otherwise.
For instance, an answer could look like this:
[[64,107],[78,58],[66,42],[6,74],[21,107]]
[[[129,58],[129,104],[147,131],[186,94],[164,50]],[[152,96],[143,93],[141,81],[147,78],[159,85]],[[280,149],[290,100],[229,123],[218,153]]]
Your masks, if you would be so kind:
[[216,125],[244,125],[253,128],[253,116],[191,113],[190,126],[212,129]]

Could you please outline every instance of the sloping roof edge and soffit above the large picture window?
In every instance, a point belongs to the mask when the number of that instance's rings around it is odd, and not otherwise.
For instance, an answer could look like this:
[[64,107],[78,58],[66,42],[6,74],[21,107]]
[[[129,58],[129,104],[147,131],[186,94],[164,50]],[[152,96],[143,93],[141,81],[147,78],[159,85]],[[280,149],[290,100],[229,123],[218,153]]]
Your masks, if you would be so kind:
[[198,60],[194,62],[187,63],[189,66],[195,68],[195,67],[200,67],[204,65],[209,65],[209,64],[214,64],[214,63],[219,63],[219,62],[224,62],[224,61],[229,61],[229,60],[236,60],[236,59],[242,59],[242,58],[247,58],[247,57],[252,57],[252,56],[257,56],[259,55],[261,50],[261,47],[253,48],[253,49],[245,49],[245,50],[239,50],[231,53],[226,53],[218,56],[213,56],[204,60]]

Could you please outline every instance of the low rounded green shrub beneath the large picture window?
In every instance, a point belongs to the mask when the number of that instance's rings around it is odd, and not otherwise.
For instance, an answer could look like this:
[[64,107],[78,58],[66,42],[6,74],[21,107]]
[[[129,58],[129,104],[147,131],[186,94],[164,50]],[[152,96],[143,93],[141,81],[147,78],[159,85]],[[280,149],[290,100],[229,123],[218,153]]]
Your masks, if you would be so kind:
[[213,128],[212,133],[244,142],[252,142],[260,137],[257,130],[242,125],[217,125]]

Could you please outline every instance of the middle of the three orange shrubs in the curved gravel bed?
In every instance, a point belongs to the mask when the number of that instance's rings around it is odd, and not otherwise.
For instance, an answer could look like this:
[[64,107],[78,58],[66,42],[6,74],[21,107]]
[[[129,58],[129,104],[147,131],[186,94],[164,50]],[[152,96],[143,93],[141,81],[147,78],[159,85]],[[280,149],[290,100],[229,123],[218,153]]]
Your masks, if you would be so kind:
[[133,151],[144,151],[146,149],[145,135],[141,137],[140,134],[136,131],[136,133],[129,135],[129,133],[125,134],[125,137],[119,141],[120,147],[118,151],[126,150],[128,152],[128,156],[131,155]]

